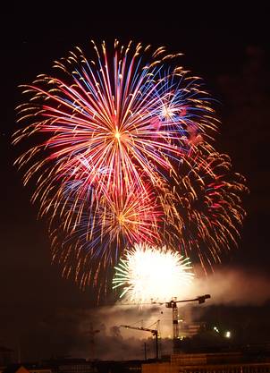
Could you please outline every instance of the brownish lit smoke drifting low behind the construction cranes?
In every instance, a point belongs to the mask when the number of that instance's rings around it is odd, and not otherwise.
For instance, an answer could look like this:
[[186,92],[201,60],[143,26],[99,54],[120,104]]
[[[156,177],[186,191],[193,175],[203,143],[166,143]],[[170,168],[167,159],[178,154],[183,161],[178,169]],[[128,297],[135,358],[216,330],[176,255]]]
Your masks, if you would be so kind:
[[[179,303],[180,318],[189,323],[199,321],[198,318],[208,318],[211,321],[213,315],[215,316],[211,309],[218,307],[224,309],[221,319],[226,318],[226,323],[230,324],[239,310],[238,324],[245,319],[246,324],[242,328],[245,333],[252,330],[252,335],[257,330],[252,329],[254,320],[257,318],[263,323],[268,318],[270,286],[269,279],[265,276],[240,269],[223,269],[211,276],[195,279],[189,298],[206,293],[211,298],[204,304]],[[172,309],[166,308],[165,304],[144,305],[141,308],[120,304],[93,309],[56,308],[44,315],[38,312],[35,308],[21,310],[20,319],[15,324],[13,322],[16,329],[14,333],[19,333],[21,328],[18,345],[20,343],[21,360],[24,361],[49,359],[53,356],[143,360],[145,347],[147,357],[154,358],[153,335],[122,325],[155,329],[158,323],[162,337],[160,351],[163,355],[172,352]],[[260,330],[265,329],[262,326]],[[249,335],[245,335],[245,338],[248,337]],[[9,345],[17,350],[17,345]]]

